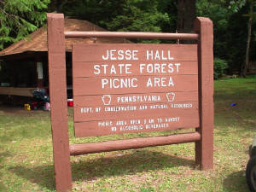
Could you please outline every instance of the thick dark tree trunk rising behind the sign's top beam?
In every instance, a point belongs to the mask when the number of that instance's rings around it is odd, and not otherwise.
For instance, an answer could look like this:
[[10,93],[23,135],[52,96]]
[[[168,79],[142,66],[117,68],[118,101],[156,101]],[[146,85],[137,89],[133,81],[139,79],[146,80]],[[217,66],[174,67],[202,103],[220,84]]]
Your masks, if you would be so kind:
[[196,0],[177,0],[177,32],[192,32]]

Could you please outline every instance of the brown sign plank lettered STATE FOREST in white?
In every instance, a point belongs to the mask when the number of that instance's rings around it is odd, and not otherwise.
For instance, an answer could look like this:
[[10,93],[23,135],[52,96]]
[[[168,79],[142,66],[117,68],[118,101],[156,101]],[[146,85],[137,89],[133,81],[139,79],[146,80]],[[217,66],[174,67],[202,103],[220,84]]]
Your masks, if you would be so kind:
[[[140,72],[140,64],[143,74]],[[145,67],[145,65],[150,65]],[[161,74],[165,75],[177,75],[177,74],[198,74],[198,62],[197,61],[77,61],[74,62],[75,66],[73,70],[73,78],[89,78],[89,77],[130,77],[138,75],[148,75],[148,76],[157,76]],[[102,73],[95,74],[94,66],[107,65],[107,74],[104,74],[104,68],[99,67],[102,70]],[[178,65],[178,72],[177,72]],[[130,73],[125,73],[125,66]],[[113,67],[116,71],[115,73],[109,74],[109,71]],[[168,68],[169,67],[169,68]],[[169,72],[168,72],[169,70]],[[163,72],[163,73],[162,73]]]

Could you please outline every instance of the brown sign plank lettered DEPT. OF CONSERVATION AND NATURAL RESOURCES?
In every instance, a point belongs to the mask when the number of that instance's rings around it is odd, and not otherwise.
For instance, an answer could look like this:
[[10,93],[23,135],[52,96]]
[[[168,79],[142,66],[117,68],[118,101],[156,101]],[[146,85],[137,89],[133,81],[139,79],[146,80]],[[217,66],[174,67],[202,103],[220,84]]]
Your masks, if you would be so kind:
[[[91,108],[91,112],[90,112]],[[89,120],[108,120],[108,119],[124,119],[125,117],[146,118],[151,116],[168,116],[169,114],[186,117],[198,117],[198,102],[173,102],[173,103],[157,103],[142,105],[119,105],[119,106],[103,106],[100,112],[96,112],[96,108],[76,107],[73,108],[74,122]]]

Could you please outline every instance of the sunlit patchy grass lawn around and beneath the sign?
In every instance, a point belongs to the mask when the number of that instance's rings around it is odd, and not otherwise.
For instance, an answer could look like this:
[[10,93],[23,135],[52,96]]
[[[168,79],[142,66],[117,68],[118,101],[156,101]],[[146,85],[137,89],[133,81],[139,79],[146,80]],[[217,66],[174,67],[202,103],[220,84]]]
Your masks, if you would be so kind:
[[[195,166],[194,143],[87,154],[71,157],[73,191],[248,191],[255,96],[255,76],[215,81],[212,171]],[[68,110],[70,143],[170,134],[75,138]],[[0,106],[0,191],[55,191],[49,112]]]

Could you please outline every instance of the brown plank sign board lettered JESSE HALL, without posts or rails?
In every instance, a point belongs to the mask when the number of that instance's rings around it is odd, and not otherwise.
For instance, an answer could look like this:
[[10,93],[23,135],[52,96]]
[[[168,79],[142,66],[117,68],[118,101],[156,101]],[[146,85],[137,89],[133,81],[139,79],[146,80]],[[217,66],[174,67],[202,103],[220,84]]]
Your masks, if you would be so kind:
[[197,44],[73,44],[76,137],[199,126]]

